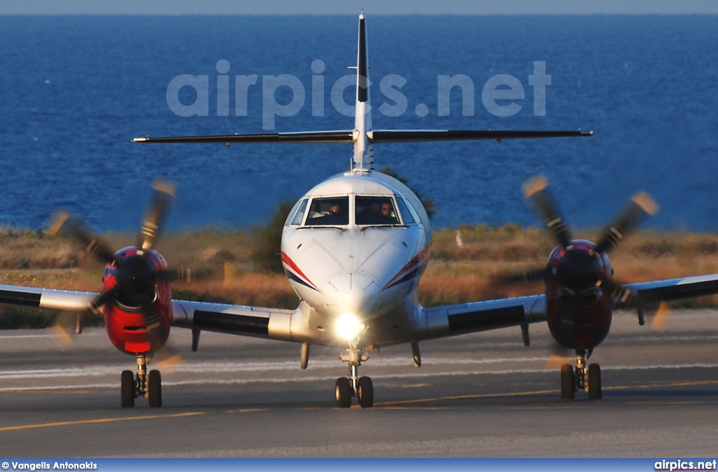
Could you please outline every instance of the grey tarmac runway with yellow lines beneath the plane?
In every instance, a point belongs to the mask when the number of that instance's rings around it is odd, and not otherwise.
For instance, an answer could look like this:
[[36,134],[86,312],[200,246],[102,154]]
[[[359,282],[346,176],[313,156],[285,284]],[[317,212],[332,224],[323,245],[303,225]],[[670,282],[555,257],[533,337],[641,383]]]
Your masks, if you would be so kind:
[[[120,407],[136,368],[103,330],[61,348],[52,331],[0,331],[3,457],[704,457],[717,454],[718,311],[676,311],[664,331],[618,313],[591,357],[603,399],[559,400],[551,338],[531,326],[370,354],[371,409],[339,410],[337,348],[174,329],[163,406]],[[172,353],[170,353],[172,354]],[[169,354],[164,354],[167,357]],[[159,367],[158,367],[159,366]]]

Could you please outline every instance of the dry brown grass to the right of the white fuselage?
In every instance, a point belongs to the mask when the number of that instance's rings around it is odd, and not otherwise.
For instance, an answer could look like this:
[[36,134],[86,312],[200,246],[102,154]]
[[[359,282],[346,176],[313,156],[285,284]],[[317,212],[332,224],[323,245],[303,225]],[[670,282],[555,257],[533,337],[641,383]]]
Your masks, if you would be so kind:
[[[599,230],[577,231],[594,238]],[[536,227],[462,226],[434,233],[432,263],[421,279],[427,306],[541,292],[541,283],[498,286],[493,278],[540,268],[555,243]],[[643,231],[630,235],[610,254],[622,283],[718,273],[718,234]],[[718,297],[686,301],[684,306],[716,306]]]

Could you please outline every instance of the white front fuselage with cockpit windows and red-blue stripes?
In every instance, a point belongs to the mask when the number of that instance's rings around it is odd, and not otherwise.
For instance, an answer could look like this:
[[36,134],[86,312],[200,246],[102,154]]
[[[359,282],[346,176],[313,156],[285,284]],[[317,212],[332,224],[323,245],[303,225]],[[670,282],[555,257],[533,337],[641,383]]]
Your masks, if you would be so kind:
[[[281,242],[286,275],[308,310],[304,329],[318,331],[323,344],[402,341],[416,330],[416,288],[430,242],[423,205],[391,176],[348,172],[311,189]],[[337,324],[347,320],[357,332],[341,336]]]

